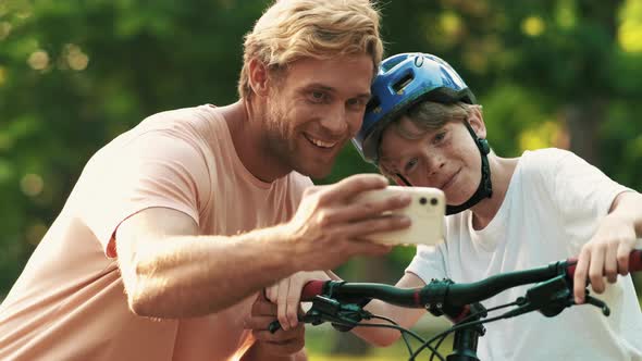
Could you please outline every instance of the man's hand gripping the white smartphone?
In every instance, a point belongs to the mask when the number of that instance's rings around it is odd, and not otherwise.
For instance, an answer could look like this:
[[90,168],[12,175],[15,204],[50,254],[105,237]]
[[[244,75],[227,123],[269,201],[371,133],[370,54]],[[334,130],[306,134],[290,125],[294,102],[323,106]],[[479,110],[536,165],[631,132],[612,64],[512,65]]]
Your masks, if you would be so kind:
[[358,174],[306,190],[294,217],[275,231],[291,240],[288,247],[295,249],[292,262],[298,263],[297,269],[332,270],[354,256],[390,252],[388,245],[373,242],[371,237],[410,226],[406,215],[391,214],[408,207],[410,197],[396,194],[355,201],[359,195],[386,186],[387,179],[381,175]]

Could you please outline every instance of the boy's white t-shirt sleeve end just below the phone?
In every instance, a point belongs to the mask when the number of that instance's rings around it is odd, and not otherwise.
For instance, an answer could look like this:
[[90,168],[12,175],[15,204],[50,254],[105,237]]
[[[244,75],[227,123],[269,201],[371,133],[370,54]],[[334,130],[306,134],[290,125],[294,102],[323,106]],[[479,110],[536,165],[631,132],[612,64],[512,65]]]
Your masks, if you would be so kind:
[[417,246],[417,253],[406,267],[406,272],[417,275],[425,284],[429,284],[432,278],[449,278],[445,251],[445,244]]

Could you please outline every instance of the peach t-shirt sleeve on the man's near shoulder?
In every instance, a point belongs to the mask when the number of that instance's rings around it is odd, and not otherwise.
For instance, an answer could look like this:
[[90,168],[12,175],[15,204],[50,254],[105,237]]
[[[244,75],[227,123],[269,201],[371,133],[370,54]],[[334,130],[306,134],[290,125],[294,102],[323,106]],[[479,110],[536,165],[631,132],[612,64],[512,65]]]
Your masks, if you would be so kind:
[[134,138],[98,160],[89,173],[86,189],[95,198],[87,197],[81,216],[109,258],[116,257],[118,226],[131,215],[169,208],[199,224],[200,200],[208,199],[209,173],[198,146],[163,132]]

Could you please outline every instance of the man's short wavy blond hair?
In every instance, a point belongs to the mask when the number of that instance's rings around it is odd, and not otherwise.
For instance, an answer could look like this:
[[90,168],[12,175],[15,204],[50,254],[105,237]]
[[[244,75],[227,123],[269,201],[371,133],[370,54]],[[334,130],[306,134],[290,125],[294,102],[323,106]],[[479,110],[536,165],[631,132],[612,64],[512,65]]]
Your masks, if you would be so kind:
[[303,58],[367,53],[376,72],[383,55],[379,26],[369,0],[277,0],[245,36],[238,94],[251,97],[248,67],[255,58],[272,72]]

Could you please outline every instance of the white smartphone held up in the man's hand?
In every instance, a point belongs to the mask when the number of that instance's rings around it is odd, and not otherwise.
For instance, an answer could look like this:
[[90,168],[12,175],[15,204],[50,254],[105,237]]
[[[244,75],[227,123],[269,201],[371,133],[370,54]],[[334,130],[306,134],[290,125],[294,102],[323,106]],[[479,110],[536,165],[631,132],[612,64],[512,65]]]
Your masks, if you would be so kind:
[[393,195],[410,195],[412,201],[406,208],[384,214],[403,214],[411,220],[408,228],[376,233],[369,239],[386,245],[436,245],[444,239],[446,197],[439,188],[388,186],[384,189],[365,191],[355,201],[385,199]]

